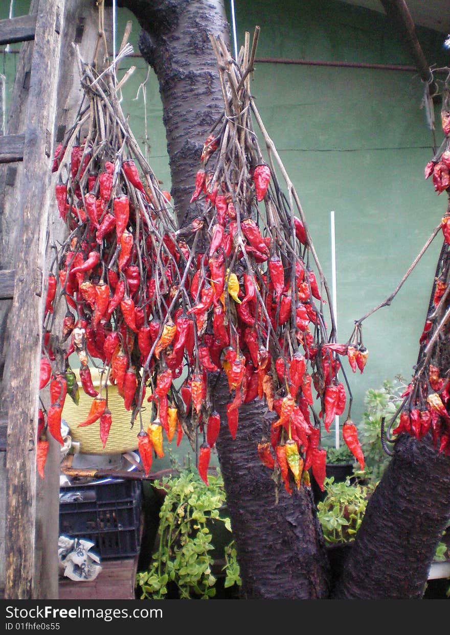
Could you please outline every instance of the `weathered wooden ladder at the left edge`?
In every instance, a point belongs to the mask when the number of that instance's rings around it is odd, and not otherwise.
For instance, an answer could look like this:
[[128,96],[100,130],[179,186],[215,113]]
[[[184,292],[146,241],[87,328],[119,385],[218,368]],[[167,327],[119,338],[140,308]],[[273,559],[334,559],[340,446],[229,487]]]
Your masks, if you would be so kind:
[[[6,450],[4,598],[36,597],[36,431],[39,403],[45,237],[51,204],[51,161],[65,0],[33,0],[31,14],[0,20],[0,44],[34,39],[24,129],[0,137],[0,163],[22,161],[14,184],[13,267],[0,271],[8,302],[0,449]],[[14,254],[15,251],[15,254]],[[5,429],[7,431],[5,438]]]

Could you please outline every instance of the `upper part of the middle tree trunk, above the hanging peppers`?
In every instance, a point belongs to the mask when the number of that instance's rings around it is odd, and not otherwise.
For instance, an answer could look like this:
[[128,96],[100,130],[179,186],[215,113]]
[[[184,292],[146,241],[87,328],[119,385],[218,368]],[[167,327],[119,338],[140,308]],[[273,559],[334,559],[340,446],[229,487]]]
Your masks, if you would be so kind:
[[[208,33],[229,39],[222,0],[119,0],[142,27],[139,48],[160,83],[163,121],[180,225],[189,206],[208,131],[223,110],[217,64]],[[191,211],[191,213],[189,213]]]

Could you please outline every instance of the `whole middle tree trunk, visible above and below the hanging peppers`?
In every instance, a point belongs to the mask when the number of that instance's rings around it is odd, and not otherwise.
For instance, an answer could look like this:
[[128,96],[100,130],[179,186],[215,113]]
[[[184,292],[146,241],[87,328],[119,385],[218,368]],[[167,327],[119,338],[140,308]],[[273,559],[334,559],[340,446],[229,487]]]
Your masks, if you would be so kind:
[[[163,119],[180,225],[197,215],[189,206],[203,141],[224,104],[208,33],[228,40],[221,0],[120,0],[144,31],[140,50],[160,82]],[[229,401],[224,376],[216,391],[222,421]],[[289,497],[259,461],[262,406],[241,406],[235,441],[224,426],[217,443],[246,598],[324,598],[329,570],[311,493]]]

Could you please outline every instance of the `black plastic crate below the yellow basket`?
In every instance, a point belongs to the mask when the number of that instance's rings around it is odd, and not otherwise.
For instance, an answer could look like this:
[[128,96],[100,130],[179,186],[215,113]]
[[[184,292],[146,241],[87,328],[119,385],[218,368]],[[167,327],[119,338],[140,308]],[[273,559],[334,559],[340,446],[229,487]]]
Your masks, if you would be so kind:
[[59,533],[95,542],[100,559],[130,558],[140,550],[141,507],[140,481],[61,487]]

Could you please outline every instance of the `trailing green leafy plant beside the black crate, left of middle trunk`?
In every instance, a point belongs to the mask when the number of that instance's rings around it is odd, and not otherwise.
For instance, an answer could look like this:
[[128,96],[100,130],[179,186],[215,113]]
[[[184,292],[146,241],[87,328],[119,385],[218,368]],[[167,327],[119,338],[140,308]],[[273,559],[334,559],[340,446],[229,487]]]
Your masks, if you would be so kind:
[[223,480],[208,474],[206,485],[192,471],[163,479],[165,490],[160,510],[157,549],[148,571],[137,574],[141,599],[164,599],[168,585],[177,587],[180,599],[208,599],[215,596],[216,577],[212,573],[214,530],[225,529],[230,542],[225,546],[225,587],[240,585],[236,550],[231,540],[231,522],[224,514],[226,502]]

